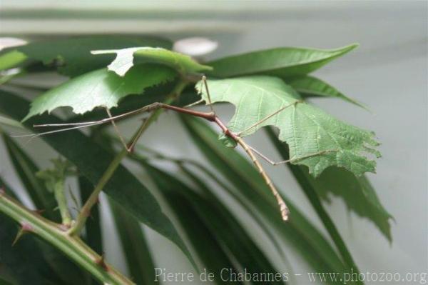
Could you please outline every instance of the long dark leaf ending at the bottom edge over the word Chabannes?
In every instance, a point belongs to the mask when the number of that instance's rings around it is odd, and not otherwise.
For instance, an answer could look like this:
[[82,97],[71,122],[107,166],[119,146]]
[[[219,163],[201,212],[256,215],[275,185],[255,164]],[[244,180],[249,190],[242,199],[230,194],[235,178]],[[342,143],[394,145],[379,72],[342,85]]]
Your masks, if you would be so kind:
[[[243,226],[215,196],[209,194],[210,191],[205,189],[203,196],[198,195],[195,189],[165,171],[156,169],[150,164],[146,164],[145,169],[158,189],[163,192],[165,199],[169,200],[171,204],[174,203],[175,199],[179,200],[180,198],[177,197],[180,196],[183,197],[181,199],[185,199],[190,204],[200,219],[204,221],[205,226],[213,233],[215,239],[225,246],[227,251],[232,254],[233,259],[240,264],[240,268],[247,269],[250,273],[277,272]],[[195,176],[193,176],[194,178]],[[198,181],[198,190],[203,190],[200,189],[201,184],[203,182]],[[177,214],[180,215],[180,212]],[[219,272],[215,273],[216,276],[220,276]],[[263,284],[266,283],[263,282]],[[283,282],[272,281],[268,284],[283,284]]]

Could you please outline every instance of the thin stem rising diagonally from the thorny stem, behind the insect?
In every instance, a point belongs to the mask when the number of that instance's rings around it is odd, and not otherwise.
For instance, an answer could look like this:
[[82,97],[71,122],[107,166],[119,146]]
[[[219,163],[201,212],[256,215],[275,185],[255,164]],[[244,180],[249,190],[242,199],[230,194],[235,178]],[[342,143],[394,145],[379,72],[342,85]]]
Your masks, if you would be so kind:
[[[170,104],[172,101],[177,98],[177,96],[180,95],[180,93],[183,91],[185,86],[188,84],[188,81],[179,81],[178,84],[175,86],[173,91],[167,96],[167,98],[164,101],[164,104]],[[150,126],[153,121],[156,121],[158,119],[158,116],[161,115],[163,112],[163,109],[156,109],[153,111],[151,116],[146,119],[146,121],[141,124],[140,128],[136,131],[136,133],[132,136],[132,144],[130,146],[130,149],[133,149],[133,146],[136,144],[136,141],[141,137],[141,135],[146,131],[148,126]],[[103,173],[103,176],[101,176],[101,179],[98,181],[98,184],[96,185],[95,189],[93,189],[91,196],[89,196],[86,203],[83,205],[81,209],[81,213],[78,215],[76,219],[76,223],[73,224],[71,229],[68,231],[68,234],[71,236],[78,236],[80,235],[83,226],[85,226],[86,219],[88,219],[88,216],[91,214],[91,209],[93,205],[95,205],[98,202],[98,195],[100,194],[101,190],[103,190],[104,186],[106,186],[108,180],[110,180],[111,176],[113,175],[114,171],[118,168],[119,164],[121,164],[122,159],[128,154],[128,149],[123,148],[121,152],[119,152],[116,157],[111,161],[111,164],[108,166],[106,171]]]

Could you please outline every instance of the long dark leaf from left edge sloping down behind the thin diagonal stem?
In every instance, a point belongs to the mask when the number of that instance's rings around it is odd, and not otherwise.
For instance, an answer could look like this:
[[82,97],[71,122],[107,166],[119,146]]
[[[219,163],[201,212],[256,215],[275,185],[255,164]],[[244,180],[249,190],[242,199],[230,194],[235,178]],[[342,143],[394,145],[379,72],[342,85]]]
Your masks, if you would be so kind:
[[[25,99],[0,90],[0,113],[19,120],[25,116],[25,110],[28,107],[29,102]],[[26,121],[24,125],[28,129],[35,131],[34,124],[58,124],[62,122],[55,116],[38,116]],[[58,133],[54,136],[42,136],[42,139],[56,149],[59,154],[76,165],[80,173],[86,176],[92,184],[96,184],[99,181],[108,165],[113,161],[112,154],[103,150],[99,144],[95,144],[80,131],[73,130]],[[186,249],[173,224],[163,213],[158,201],[138,181],[136,176],[133,176],[125,167],[118,166],[103,191],[138,221],[173,241],[188,259],[193,261],[188,249]]]

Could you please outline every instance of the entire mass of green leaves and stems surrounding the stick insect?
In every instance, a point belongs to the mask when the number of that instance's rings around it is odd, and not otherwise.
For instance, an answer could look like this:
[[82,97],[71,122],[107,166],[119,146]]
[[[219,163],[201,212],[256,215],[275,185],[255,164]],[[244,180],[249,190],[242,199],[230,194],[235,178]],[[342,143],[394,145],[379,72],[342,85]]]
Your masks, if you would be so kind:
[[[305,101],[311,96],[334,97],[362,106],[325,81],[307,75],[355,49],[355,44],[331,50],[285,47],[254,51],[208,64],[170,51],[171,46],[170,41],[156,38],[95,36],[31,42],[1,51],[0,70],[5,74],[14,68],[22,70],[19,76],[47,69],[71,77],[37,96],[31,108],[23,98],[25,89],[6,90],[14,83],[13,77],[0,79],[1,126],[8,131],[25,128],[37,132],[40,129],[34,125],[38,124],[73,129],[35,135],[63,158],[53,161],[54,169],[39,169],[31,159],[31,143],[19,146],[6,131],[1,132],[24,189],[36,208],[45,211],[35,214],[25,209],[14,199],[16,189],[1,181],[6,189],[5,194],[0,193],[1,244],[14,241],[11,219],[21,229],[16,251],[1,246],[0,262],[5,268],[0,271],[0,283],[26,284],[31,279],[31,284],[153,284],[154,267],[159,264],[153,260],[156,249],[146,239],[141,223],[177,245],[197,271],[206,268],[216,276],[225,267],[251,272],[291,271],[278,268],[266,254],[258,236],[240,216],[242,211],[282,259],[297,254],[315,271],[358,271],[322,203],[330,201],[331,195],[339,196],[348,209],[370,219],[387,239],[392,239],[392,216],[383,208],[370,181],[362,176],[375,171],[376,163],[368,155],[380,156],[374,133],[335,119]],[[200,81],[203,72],[208,75],[207,81]],[[201,100],[210,107],[216,102],[235,105],[229,124],[223,124],[215,113],[183,108]],[[160,101],[162,104],[156,103]],[[71,107],[76,116],[58,119],[50,114],[59,107]],[[173,159],[141,149],[138,144],[130,154],[126,149],[118,151],[120,139],[102,126],[111,122],[105,119],[105,109],[122,120],[128,119],[122,115],[126,112],[151,111],[133,136],[137,140],[161,116],[162,108],[183,113],[179,118],[189,141],[205,161]],[[194,116],[215,122],[223,133],[218,135]],[[92,123],[74,124],[83,119]],[[78,130],[83,126],[90,127],[88,133]],[[243,141],[262,127],[288,161],[287,167],[328,235],[307,219],[305,209],[297,208],[283,194],[281,185],[275,197],[283,199],[290,209],[290,221],[282,221],[277,199],[269,192],[276,187],[258,163],[257,153]],[[251,161],[224,144],[243,146]],[[158,167],[153,163],[158,159],[169,161],[180,175]],[[128,160],[145,171],[153,183],[131,173],[128,164],[122,164]],[[70,171],[71,165],[76,171]],[[76,215],[68,211],[71,201],[65,195],[65,177],[70,175],[78,178],[83,205]],[[103,216],[97,204],[101,190],[108,196],[131,278],[103,259],[108,248],[103,246]],[[54,211],[56,206],[61,216]],[[91,218],[86,219],[88,216]],[[82,234],[83,226],[86,234]],[[38,266],[29,266],[34,262]],[[215,284],[224,283],[215,280]]]

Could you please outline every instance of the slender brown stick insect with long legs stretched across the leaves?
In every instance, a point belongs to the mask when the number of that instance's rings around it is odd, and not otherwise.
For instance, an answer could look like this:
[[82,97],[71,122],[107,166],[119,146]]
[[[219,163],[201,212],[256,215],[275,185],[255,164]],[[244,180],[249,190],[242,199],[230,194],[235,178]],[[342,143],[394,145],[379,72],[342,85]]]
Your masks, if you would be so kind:
[[[246,132],[250,131],[250,129],[255,128],[256,126],[259,126],[260,124],[262,124],[264,121],[266,121],[267,119],[270,119],[272,116],[275,116],[276,114],[280,113],[281,111],[295,106],[296,104],[301,103],[302,101],[295,101],[292,104],[288,104],[286,106],[283,106],[282,108],[278,109],[277,111],[273,112],[272,114],[265,116],[265,118],[261,119],[260,121],[256,122],[255,124],[249,126],[247,129],[240,131],[238,134],[233,133],[232,131],[230,131],[228,129],[227,126],[225,126],[225,124],[223,124],[223,121],[220,120],[220,118],[217,116],[217,114],[215,113],[215,110],[213,108],[213,104],[211,101],[211,97],[210,97],[210,91],[208,89],[208,83],[206,80],[205,76],[201,77],[201,84],[203,84],[203,87],[205,88],[205,92],[207,94],[207,98],[208,98],[208,106],[210,107],[210,111],[209,112],[203,112],[203,111],[195,111],[193,109],[190,109],[191,106],[195,106],[197,104],[200,104],[203,102],[203,100],[199,100],[196,101],[193,104],[190,104],[188,106],[184,106],[184,107],[178,107],[178,106],[172,106],[169,104],[163,104],[161,102],[155,102],[153,104],[149,104],[147,106],[143,106],[140,109],[136,109],[133,111],[128,111],[126,113],[117,115],[117,116],[113,116],[111,114],[111,111],[106,108],[106,114],[107,117],[105,119],[101,119],[98,121],[86,121],[86,122],[80,122],[80,123],[69,123],[69,124],[38,124],[38,125],[34,125],[34,127],[65,127],[63,129],[56,129],[54,131],[45,131],[45,132],[41,132],[41,133],[37,133],[37,134],[29,134],[29,135],[24,135],[24,136],[31,136],[31,139],[34,139],[38,136],[43,136],[46,134],[54,134],[60,131],[68,131],[68,130],[72,130],[72,129],[81,129],[81,128],[86,128],[88,126],[97,126],[100,124],[106,124],[106,123],[111,123],[111,125],[113,126],[113,129],[116,133],[116,135],[118,136],[119,140],[121,141],[121,144],[123,145],[123,147],[126,149],[126,151],[128,151],[129,153],[131,153],[133,151],[134,146],[136,145],[137,141],[138,141],[138,136],[136,136],[135,139],[131,140],[129,143],[126,143],[126,140],[123,138],[121,131],[119,130],[117,124],[116,124],[116,120],[118,119],[122,119],[126,116],[130,116],[133,114],[141,114],[141,113],[146,113],[146,112],[151,112],[151,111],[155,111],[157,109],[168,109],[168,110],[172,110],[172,111],[177,111],[179,113],[182,114],[188,114],[188,115],[192,115],[192,116],[198,116],[200,118],[206,119],[208,121],[211,121],[215,124],[217,124],[220,127],[220,130],[223,131],[223,134],[225,134],[225,136],[230,137],[230,139],[233,139],[233,141],[235,141],[237,144],[239,144],[244,151],[246,152],[246,154],[248,154],[248,156],[250,157],[251,161],[253,162],[253,164],[255,165],[255,168],[258,169],[260,175],[263,177],[265,183],[267,184],[267,186],[269,187],[270,191],[272,192],[273,196],[275,196],[275,199],[277,200],[277,204],[280,208],[280,214],[282,216],[282,220],[287,221],[289,219],[289,214],[290,211],[287,207],[287,205],[285,204],[285,201],[282,199],[282,197],[280,196],[280,194],[278,193],[275,185],[272,183],[270,177],[267,175],[267,173],[265,172],[265,170],[263,169],[263,166],[260,164],[260,161],[258,161],[257,156],[260,156],[262,159],[264,159],[265,161],[267,161],[268,163],[272,164],[272,165],[278,165],[278,164],[286,164],[289,163],[291,161],[295,161],[295,159],[287,159],[287,160],[283,160],[283,161],[272,161],[271,159],[268,159],[267,156],[265,156],[264,154],[262,154],[260,151],[258,151],[257,149],[253,148],[253,146],[249,146],[242,138],[242,135],[245,134]],[[202,86],[201,86],[202,87]],[[202,88],[201,88],[202,90]],[[22,136],[15,136],[15,137],[22,137]],[[334,151],[334,150],[331,150]],[[321,151],[318,152],[316,154],[310,154],[308,156],[302,156],[298,159],[305,159],[307,157],[310,156],[316,156],[316,155],[320,155],[320,154],[324,154],[327,151]]]

